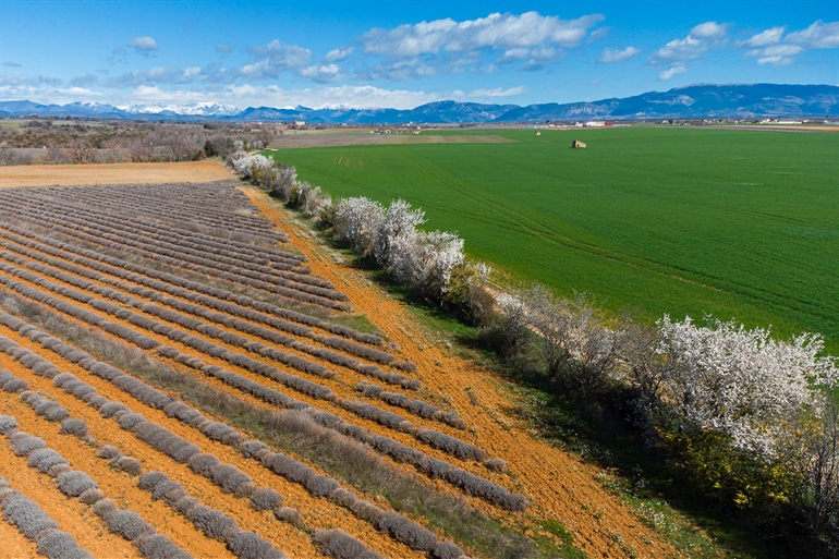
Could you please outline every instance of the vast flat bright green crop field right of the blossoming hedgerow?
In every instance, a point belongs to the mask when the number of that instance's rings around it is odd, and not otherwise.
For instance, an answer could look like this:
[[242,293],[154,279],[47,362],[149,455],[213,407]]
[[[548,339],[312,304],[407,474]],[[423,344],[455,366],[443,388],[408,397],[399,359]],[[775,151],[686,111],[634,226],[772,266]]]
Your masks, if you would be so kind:
[[710,313],[781,337],[817,331],[839,353],[839,135],[486,133],[519,143],[271,155],[333,195],[408,199],[511,281],[585,291],[648,319]]

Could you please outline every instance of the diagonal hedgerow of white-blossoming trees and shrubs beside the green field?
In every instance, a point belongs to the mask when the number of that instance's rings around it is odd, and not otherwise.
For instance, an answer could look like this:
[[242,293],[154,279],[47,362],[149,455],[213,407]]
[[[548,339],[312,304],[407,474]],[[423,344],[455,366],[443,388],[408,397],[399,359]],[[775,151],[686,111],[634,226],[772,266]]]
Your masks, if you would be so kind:
[[617,402],[628,412],[621,422],[695,490],[788,545],[839,551],[839,365],[820,336],[777,340],[713,317],[643,325],[543,285],[494,297],[489,268],[466,258],[457,234],[420,229],[424,212],[409,203],[333,203],[262,155],[229,161],[414,292],[483,326],[508,365],[535,363],[563,394]]

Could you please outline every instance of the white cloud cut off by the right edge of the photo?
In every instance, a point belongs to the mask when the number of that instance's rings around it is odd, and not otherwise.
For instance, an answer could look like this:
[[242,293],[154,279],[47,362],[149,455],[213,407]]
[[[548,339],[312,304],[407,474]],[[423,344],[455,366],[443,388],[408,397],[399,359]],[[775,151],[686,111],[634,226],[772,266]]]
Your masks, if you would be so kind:
[[746,57],[757,59],[758,64],[788,65],[806,50],[839,48],[839,22],[813,23],[806,29],[787,34],[786,27],[771,27],[758,33],[738,46],[746,48]]

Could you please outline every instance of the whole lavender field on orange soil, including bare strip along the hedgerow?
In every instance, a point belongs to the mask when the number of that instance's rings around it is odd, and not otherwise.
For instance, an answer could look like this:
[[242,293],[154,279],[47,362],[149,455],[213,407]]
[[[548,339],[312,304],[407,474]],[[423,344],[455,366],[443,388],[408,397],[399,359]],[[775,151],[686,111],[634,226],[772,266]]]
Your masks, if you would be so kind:
[[677,556],[276,202],[145,169],[0,190],[3,555]]

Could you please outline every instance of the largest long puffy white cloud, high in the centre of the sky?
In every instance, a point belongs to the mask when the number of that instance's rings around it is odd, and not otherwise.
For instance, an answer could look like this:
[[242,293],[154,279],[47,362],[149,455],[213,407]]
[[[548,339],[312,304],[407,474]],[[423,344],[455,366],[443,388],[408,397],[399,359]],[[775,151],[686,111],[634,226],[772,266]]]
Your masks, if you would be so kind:
[[362,35],[360,41],[365,53],[382,57],[530,49],[550,45],[576,47],[588,29],[603,20],[600,14],[560,20],[538,12],[493,13],[463,22],[446,19],[400,25],[390,31],[374,28]]

